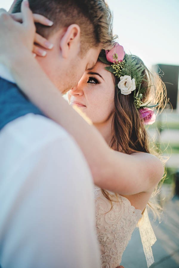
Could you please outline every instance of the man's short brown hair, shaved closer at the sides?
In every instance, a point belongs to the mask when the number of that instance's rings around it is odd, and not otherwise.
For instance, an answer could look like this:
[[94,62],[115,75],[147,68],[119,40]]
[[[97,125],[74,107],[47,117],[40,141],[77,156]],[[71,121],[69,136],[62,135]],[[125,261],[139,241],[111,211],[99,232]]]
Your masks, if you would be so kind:
[[[22,0],[17,0],[13,13],[20,12]],[[81,50],[112,47],[112,15],[104,0],[29,0],[33,13],[46,16],[53,26],[36,24],[37,33],[48,38],[59,28],[78,24],[81,29]]]

